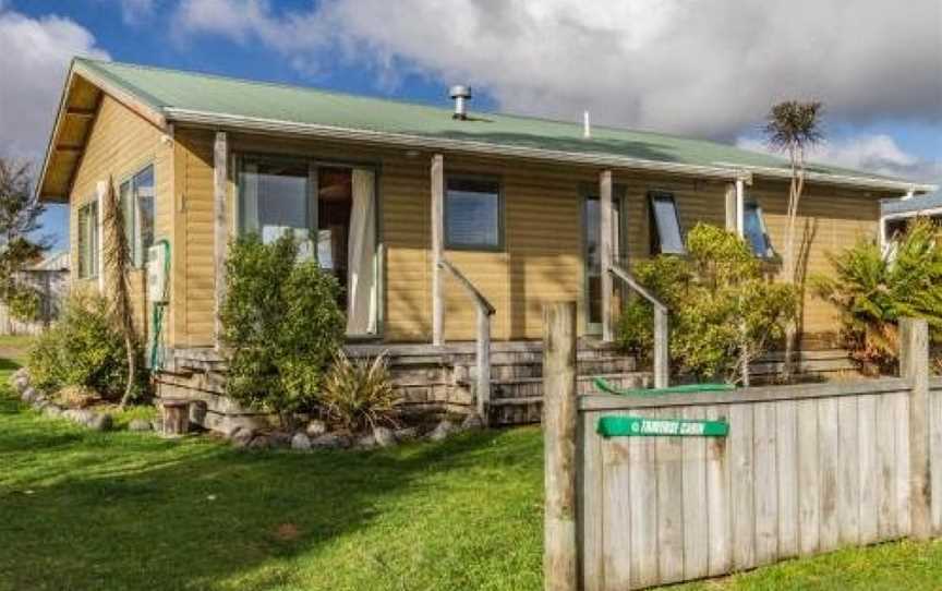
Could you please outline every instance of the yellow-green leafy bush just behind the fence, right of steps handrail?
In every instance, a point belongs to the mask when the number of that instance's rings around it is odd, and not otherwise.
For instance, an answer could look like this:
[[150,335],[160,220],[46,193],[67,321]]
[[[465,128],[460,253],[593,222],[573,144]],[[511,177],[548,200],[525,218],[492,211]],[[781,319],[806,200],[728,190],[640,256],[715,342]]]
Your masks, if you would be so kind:
[[[635,275],[669,311],[675,371],[736,382],[745,363],[784,336],[795,314],[795,289],[768,281],[746,243],[721,228],[697,225],[687,252],[641,262]],[[619,343],[649,357],[652,323],[651,305],[632,297],[618,321]]]

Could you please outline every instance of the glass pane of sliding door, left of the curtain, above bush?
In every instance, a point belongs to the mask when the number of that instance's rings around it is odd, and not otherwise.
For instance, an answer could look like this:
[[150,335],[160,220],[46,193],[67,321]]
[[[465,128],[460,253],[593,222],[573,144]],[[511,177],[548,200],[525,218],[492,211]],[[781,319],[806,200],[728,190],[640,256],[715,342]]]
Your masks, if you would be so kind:
[[258,232],[263,242],[288,230],[309,237],[311,224],[305,162],[250,161],[242,170],[242,229]]

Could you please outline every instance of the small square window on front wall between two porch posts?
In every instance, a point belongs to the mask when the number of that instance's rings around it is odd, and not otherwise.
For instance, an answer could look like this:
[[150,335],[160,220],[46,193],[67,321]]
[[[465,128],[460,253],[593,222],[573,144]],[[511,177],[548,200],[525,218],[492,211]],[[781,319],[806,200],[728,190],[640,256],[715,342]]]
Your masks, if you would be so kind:
[[449,178],[446,186],[445,248],[499,251],[504,246],[499,183]]

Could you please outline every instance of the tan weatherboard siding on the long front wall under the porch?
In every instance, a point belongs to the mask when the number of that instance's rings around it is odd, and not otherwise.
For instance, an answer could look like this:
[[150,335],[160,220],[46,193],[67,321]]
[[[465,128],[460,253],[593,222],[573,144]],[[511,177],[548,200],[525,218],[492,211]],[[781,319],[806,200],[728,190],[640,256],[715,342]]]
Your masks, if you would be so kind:
[[[178,302],[177,345],[213,343],[214,226],[213,132],[178,130],[178,191],[185,195],[178,240],[183,248],[180,270],[174,274]],[[401,150],[379,149],[311,140],[230,134],[234,154],[285,154],[338,162],[363,162],[379,168],[381,239],[386,246],[384,272],[384,327],[388,341],[431,339],[430,160],[431,153],[407,157]],[[446,256],[497,309],[493,337],[497,340],[541,337],[541,309],[555,300],[579,302],[580,334],[584,334],[582,275],[581,188],[594,186],[597,174],[588,168],[550,167],[499,159],[445,156],[445,170],[462,174],[497,177],[505,203],[504,252],[448,251]],[[230,174],[229,207],[234,210],[235,186]],[[626,188],[627,251],[639,260],[649,253],[647,193],[674,193],[680,222],[689,230],[698,221],[725,222],[726,185],[717,181],[692,181],[648,174],[615,174]],[[773,244],[783,244],[782,214],[787,185],[757,185],[751,193],[766,212]],[[878,196],[835,193],[810,186],[801,213],[819,229],[809,256],[813,273],[826,268],[825,252],[852,244],[859,236],[873,236]],[[802,221],[804,224],[804,221]],[[230,217],[230,230],[234,219]],[[474,309],[457,282],[445,274],[446,339],[470,340],[474,336]],[[807,297],[806,330],[833,331],[833,310]]]

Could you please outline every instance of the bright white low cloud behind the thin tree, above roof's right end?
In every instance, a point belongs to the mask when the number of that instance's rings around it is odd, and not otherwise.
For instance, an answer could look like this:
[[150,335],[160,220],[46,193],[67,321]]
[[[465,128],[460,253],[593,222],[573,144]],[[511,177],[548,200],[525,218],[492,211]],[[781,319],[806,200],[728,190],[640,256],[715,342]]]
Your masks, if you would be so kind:
[[[737,140],[736,145],[756,152],[771,152],[753,137]],[[919,158],[904,150],[890,135],[860,134],[825,142],[813,148],[809,160],[920,182],[942,181],[942,161]]]

